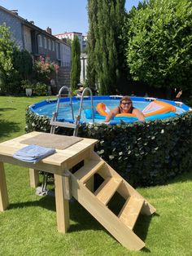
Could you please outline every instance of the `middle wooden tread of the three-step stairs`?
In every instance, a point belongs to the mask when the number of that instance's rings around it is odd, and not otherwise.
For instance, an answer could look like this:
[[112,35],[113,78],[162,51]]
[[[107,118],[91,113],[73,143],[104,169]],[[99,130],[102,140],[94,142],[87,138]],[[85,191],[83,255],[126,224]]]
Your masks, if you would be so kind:
[[117,188],[119,188],[122,179],[107,178],[101,184],[101,186],[94,192],[99,201],[102,201],[104,205],[110,201],[111,197],[115,194]]

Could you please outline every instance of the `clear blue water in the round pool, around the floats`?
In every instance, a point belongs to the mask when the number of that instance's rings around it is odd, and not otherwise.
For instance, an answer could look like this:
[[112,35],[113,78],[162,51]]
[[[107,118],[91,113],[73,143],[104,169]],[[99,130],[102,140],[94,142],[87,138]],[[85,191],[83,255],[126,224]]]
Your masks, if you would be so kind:
[[[103,102],[106,104],[107,108],[112,109],[116,108],[120,104],[120,98],[111,98],[113,96],[94,96],[93,103],[94,103],[94,109],[96,109],[96,106],[98,103]],[[146,108],[148,104],[151,103],[146,98],[143,97],[131,97],[133,100],[133,106],[135,108],[140,109],[141,111]],[[175,102],[170,101],[170,100],[165,100],[165,99],[158,99],[162,100],[164,102],[168,102],[169,104],[174,105],[177,108],[176,114],[181,115],[182,113],[185,113],[186,111],[189,110],[189,107],[186,106],[185,104],[177,105]],[[79,108],[80,108],[80,98],[73,97],[72,98],[72,106],[73,106],[73,112],[74,112],[74,117],[76,117],[79,113]],[[52,113],[55,113],[56,111],[56,104],[57,104],[57,99],[46,99],[44,101],[41,101],[37,104],[31,105],[29,108],[33,113],[36,113],[37,115],[41,116],[46,116],[46,117],[52,117]],[[91,109],[91,101],[89,97],[85,97],[83,100],[82,104],[82,111],[81,111],[81,122],[92,122],[93,119],[87,119],[85,117],[85,109]],[[155,119],[156,117],[154,117]],[[165,118],[165,117],[163,117]],[[99,118],[94,118],[95,122],[101,123],[103,122],[103,119]],[[151,119],[151,117],[149,117]],[[158,119],[162,119],[162,117],[159,117]],[[72,120],[72,108],[70,106],[70,101],[69,98],[61,98],[60,99],[60,104],[59,104],[59,115],[57,120],[63,121],[73,121]]]

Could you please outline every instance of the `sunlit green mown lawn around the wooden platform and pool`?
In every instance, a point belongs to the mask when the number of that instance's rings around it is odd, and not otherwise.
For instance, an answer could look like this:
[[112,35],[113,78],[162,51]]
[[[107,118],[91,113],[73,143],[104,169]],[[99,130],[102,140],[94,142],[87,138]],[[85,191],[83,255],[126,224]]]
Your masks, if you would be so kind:
[[[25,109],[46,97],[0,97],[0,142],[24,134]],[[57,232],[55,197],[36,196],[28,169],[5,164],[10,206],[0,213],[0,255],[192,255],[192,170],[164,186],[137,188],[157,209],[138,218],[139,252],[120,245],[78,202],[67,234]],[[118,204],[118,198],[116,198]]]

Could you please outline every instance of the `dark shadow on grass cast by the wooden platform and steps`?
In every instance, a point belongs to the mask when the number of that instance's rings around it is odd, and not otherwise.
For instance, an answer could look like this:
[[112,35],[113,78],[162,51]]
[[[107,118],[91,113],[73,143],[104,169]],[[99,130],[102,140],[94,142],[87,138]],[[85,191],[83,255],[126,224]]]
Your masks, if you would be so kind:
[[[120,211],[120,207],[122,205],[121,196],[119,194],[115,194],[112,201],[108,205],[108,208],[112,210],[114,214],[118,214]],[[27,202],[19,202],[13,203],[9,206],[9,210],[23,208],[23,207],[33,207],[38,206],[42,208],[46,208],[47,210],[56,211],[55,209],[55,196],[43,196],[37,201],[27,201]],[[107,232],[105,227],[103,227],[98,221],[91,215],[85,208],[80,205],[78,201],[72,198],[69,201],[69,210],[70,210],[70,227],[68,232],[80,232],[85,230],[103,230],[103,232]],[[159,216],[158,214],[153,214],[155,217]],[[151,223],[151,218],[153,215],[146,216],[146,215],[139,215],[137,219],[137,223],[134,227],[134,233],[145,242],[149,225]],[[56,216],[55,216],[56,218]],[[75,223],[74,223],[75,222]],[[111,234],[107,232],[109,236]],[[113,239],[114,237],[111,236]],[[150,253],[151,251],[146,247],[142,249],[146,253]]]

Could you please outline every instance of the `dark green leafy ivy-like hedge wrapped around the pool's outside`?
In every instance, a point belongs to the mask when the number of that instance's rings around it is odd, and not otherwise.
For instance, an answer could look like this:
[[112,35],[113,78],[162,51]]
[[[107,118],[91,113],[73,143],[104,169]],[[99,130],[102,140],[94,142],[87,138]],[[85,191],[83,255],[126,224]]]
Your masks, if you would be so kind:
[[[27,109],[26,131],[50,132],[50,119]],[[58,134],[72,135],[59,128]],[[192,168],[192,112],[120,125],[85,124],[78,136],[98,139],[95,151],[133,186],[164,184]]]

